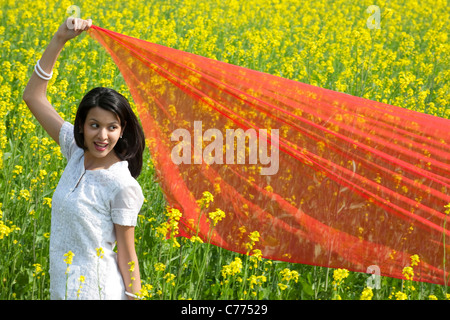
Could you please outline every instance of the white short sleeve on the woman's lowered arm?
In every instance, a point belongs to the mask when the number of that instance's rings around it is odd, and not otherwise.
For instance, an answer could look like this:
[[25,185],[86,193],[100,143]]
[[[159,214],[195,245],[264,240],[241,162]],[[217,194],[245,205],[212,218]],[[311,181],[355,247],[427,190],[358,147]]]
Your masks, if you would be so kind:
[[115,224],[136,226],[137,216],[144,203],[139,185],[121,188],[111,201],[111,217]]

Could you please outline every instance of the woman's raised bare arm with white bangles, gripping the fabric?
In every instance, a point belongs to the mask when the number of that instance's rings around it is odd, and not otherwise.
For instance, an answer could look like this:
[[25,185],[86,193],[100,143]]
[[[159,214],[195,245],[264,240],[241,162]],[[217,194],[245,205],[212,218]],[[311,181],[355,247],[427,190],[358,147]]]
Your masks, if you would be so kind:
[[[92,25],[92,20],[82,20],[79,18],[68,18],[56,31],[50,40],[47,48],[42,54],[36,68],[28,81],[22,98],[30,111],[42,125],[45,131],[59,144],[59,131],[63,124],[63,119],[56,112],[47,99],[48,75],[52,74],[53,67],[58,59],[65,43],[78,36],[83,31],[88,30]],[[37,69],[37,71],[36,71]],[[36,73],[38,72],[40,76]]]

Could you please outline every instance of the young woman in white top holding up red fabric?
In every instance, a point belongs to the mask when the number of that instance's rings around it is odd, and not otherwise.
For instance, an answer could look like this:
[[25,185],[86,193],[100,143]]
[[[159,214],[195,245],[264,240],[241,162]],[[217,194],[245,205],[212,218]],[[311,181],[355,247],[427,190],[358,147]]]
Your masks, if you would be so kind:
[[50,295],[134,299],[140,291],[134,227],[144,200],[136,181],[145,147],[142,128],[126,98],[112,89],[88,92],[74,125],[65,122],[46,98],[47,82],[64,44],[91,25],[90,19],[65,21],[37,61],[23,93],[67,159],[52,201]]

